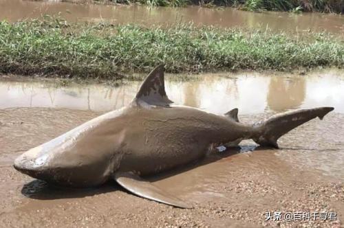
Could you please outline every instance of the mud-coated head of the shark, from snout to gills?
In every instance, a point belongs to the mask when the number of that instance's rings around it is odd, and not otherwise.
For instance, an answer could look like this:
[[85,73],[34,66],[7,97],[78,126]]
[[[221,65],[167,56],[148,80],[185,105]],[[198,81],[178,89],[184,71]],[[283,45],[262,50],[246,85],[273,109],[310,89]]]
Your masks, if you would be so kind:
[[106,141],[94,143],[94,127],[79,126],[32,148],[15,159],[13,166],[23,174],[57,185],[89,187],[104,183],[114,170],[116,157],[111,157],[111,145]]

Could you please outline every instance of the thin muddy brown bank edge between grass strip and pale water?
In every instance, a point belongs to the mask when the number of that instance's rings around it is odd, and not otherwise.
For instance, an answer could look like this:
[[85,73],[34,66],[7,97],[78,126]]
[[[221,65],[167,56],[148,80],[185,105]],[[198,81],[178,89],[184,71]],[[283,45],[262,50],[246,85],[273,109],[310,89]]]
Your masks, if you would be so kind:
[[[290,75],[292,77],[313,77],[321,73],[328,73],[329,71],[343,71],[344,69],[338,67],[314,67],[312,69],[294,69],[290,71],[277,70],[251,70],[240,69],[237,71],[206,71],[206,72],[181,72],[181,73],[165,73],[165,80],[171,82],[193,82],[203,80],[204,77],[209,78],[216,76],[219,78],[237,78],[239,75],[256,74],[257,76],[277,76],[285,77]],[[147,77],[147,72],[124,72],[120,73],[121,78],[78,78],[78,77],[64,77],[59,75],[21,75],[16,73],[0,73],[0,81],[2,82],[47,82],[56,84],[57,87],[69,87],[73,84],[104,84],[109,86],[121,86],[131,82],[142,82]]]

